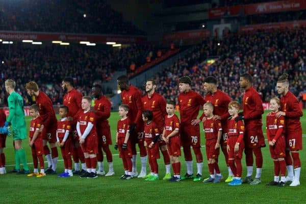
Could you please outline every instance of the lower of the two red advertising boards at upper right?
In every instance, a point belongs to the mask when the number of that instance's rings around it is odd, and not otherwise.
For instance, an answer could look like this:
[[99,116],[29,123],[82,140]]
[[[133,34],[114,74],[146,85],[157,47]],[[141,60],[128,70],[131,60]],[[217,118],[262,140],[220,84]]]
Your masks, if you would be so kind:
[[256,32],[257,30],[279,30],[279,29],[294,29],[296,27],[306,26],[306,20],[279,22],[279,23],[266,23],[245,25],[240,27],[240,32]]

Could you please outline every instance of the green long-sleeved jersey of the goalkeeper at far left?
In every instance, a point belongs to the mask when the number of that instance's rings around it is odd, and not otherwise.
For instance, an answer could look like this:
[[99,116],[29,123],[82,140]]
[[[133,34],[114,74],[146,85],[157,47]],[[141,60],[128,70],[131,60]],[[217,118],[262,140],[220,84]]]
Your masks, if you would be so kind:
[[7,121],[11,122],[13,129],[14,127],[25,127],[23,98],[21,95],[12,92],[8,97],[8,104],[10,114]]

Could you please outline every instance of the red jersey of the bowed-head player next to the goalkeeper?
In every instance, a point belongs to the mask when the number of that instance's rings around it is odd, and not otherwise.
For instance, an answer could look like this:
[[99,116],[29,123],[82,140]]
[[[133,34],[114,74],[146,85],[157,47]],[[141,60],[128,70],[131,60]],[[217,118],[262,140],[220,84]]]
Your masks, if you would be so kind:
[[53,109],[51,99],[42,91],[39,91],[37,97],[35,97],[36,104],[39,107],[39,115],[45,127],[52,126],[57,122],[57,118]]

